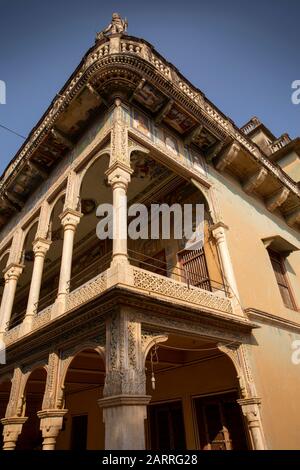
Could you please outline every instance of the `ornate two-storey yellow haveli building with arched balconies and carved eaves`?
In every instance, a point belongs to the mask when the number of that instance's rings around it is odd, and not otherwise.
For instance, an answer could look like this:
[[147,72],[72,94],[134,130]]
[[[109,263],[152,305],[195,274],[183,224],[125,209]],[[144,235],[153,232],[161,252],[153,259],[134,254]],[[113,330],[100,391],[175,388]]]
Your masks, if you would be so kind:
[[[3,448],[299,448],[299,156],[114,14],[0,180]],[[126,194],[204,248],[100,241]]]

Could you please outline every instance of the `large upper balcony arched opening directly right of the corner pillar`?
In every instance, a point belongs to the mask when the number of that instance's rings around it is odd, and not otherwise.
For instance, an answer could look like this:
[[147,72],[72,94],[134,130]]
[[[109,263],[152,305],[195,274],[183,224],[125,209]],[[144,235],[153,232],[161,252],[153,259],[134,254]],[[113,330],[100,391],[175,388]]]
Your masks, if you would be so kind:
[[[176,175],[149,155],[134,151],[131,156],[133,169],[132,182],[128,188],[129,205],[142,203],[147,207],[148,239],[128,239],[128,253],[131,264],[156,274],[171,277],[177,281],[195,287],[227,294],[218,251],[210,234],[212,225],[211,210],[205,195],[190,181]],[[155,205],[177,204],[175,215],[171,212],[170,236],[162,233],[162,216],[159,219],[159,234],[151,234]],[[188,206],[189,205],[189,206]],[[186,248],[184,237],[175,236],[175,224],[181,224],[184,234],[184,213],[187,207],[192,208],[193,230],[196,225],[196,205],[203,206],[204,243],[199,248]],[[150,235],[151,234],[151,235]]]

